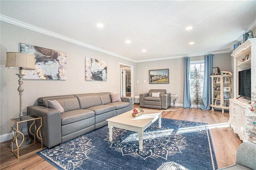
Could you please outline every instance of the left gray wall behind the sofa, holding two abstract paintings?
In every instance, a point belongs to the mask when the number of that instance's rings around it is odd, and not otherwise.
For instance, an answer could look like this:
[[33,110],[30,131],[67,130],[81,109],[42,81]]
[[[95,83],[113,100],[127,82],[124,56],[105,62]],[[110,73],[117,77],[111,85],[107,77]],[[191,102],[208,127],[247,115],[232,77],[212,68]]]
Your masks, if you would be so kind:
[[[119,93],[119,63],[136,64],[105,53],[68,43],[29,29],[24,29],[1,21],[1,60],[0,60],[0,135],[10,133],[10,119],[18,117],[18,70],[5,68],[6,52],[19,51],[19,43],[64,51],[67,53],[67,80],[25,80],[23,111],[36,104],[38,97],[89,92]],[[108,81],[85,81],[85,57],[107,61]]]

